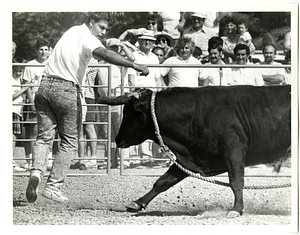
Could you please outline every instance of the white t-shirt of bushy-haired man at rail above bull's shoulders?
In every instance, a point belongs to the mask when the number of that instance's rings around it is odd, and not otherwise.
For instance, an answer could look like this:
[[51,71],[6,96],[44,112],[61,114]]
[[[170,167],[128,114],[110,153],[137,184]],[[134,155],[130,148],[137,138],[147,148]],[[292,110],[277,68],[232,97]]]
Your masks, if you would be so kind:
[[[191,56],[187,60],[183,60],[179,56],[173,56],[165,60],[163,64],[194,64],[201,65],[200,61]],[[161,76],[168,74],[169,86],[181,86],[181,87],[197,87],[198,79],[207,79],[207,72],[204,68],[183,68],[183,67],[161,67]]]

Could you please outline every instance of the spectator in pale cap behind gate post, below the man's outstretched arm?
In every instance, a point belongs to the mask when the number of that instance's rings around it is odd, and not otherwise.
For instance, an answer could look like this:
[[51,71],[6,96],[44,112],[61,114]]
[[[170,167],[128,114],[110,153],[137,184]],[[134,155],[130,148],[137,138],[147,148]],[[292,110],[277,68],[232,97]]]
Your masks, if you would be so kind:
[[[121,54],[122,56],[128,58],[130,61],[135,60],[132,51],[127,47],[125,43],[121,42],[119,39],[107,39],[106,45],[109,50]],[[121,88],[122,73],[127,73],[127,71],[124,69],[126,68],[123,68],[122,66],[111,65],[111,96],[121,95],[121,89],[116,88]],[[97,73],[97,79],[98,84],[102,86],[97,89],[97,93],[100,95],[100,97],[108,97],[108,69],[99,68]],[[105,112],[103,113],[104,115],[101,115],[101,121],[107,121],[107,107],[101,106],[100,110]],[[111,141],[113,143],[121,125],[121,109],[119,106],[111,107],[111,123]],[[107,128],[105,128],[105,132],[107,136]],[[111,168],[118,167],[118,157],[120,154],[123,154],[123,156],[127,155],[125,156],[125,158],[129,157],[129,153],[127,150],[121,150],[119,152],[115,146],[111,148]]]

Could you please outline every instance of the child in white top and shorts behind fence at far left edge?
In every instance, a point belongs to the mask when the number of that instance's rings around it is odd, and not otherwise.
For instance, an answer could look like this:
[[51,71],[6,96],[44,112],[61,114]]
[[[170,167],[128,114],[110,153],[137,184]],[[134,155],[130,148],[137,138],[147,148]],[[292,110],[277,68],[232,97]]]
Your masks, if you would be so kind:
[[[20,57],[15,57],[13,55],[13,63],[25,63],[25,60]],[[24,68],[21,66],[13,66],[12,68],[12,133],[13,133],[13,156],[16,148],[16,140],[22,134],[22,126],[20,121],[22,120],[22,104],[23,104],[23,94],[28,90],[28,87],[21,88],[23,84],[23,72]],[[26,171],[21,168],[13,160],[13,170],[14,171]]]

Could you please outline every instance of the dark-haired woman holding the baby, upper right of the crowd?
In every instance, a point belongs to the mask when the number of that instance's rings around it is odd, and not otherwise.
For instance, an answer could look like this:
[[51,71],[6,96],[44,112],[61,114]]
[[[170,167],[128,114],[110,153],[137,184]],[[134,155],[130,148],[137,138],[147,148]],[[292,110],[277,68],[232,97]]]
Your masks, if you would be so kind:
[[230,64],[235,60],[234,48],[237,45],[239,35],[237,33],[237,26],[233,18],[226,20],[226,36],[221,37],[223,44],[224,62]]

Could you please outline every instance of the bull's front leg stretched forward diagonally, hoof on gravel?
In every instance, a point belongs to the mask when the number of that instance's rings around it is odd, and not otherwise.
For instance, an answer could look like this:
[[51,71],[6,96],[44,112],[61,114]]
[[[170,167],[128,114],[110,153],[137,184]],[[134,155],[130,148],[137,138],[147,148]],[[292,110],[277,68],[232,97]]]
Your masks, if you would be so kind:
[[188,175],[181,171],[177,166],[172,165],[170,169],[162,175],[153,185],[150,192],[136,201],[129,203],[126,206],[129,212],[139,212],[142,209],[146,209],[147,205],[161,192],[164,192],[185,179]]

